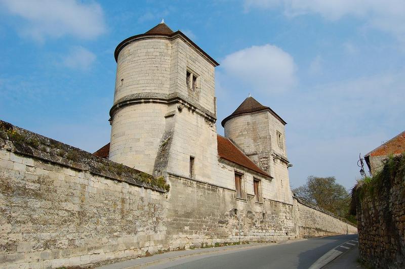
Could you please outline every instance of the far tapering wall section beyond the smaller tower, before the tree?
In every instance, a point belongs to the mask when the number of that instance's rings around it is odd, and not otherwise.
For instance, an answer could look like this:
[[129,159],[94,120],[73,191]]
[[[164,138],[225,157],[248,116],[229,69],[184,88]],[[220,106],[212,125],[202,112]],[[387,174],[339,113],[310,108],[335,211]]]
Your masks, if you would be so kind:
[[300,238],[356,234],[357,228],[321,209],[294,198],[294,218]]

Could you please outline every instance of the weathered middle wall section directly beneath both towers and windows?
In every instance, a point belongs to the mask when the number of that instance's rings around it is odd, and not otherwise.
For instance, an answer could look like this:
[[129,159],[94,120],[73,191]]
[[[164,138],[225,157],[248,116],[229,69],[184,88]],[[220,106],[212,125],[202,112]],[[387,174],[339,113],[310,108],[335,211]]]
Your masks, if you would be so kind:
[[170,175],[167,223],[170,247],[293,239],[293,206]]

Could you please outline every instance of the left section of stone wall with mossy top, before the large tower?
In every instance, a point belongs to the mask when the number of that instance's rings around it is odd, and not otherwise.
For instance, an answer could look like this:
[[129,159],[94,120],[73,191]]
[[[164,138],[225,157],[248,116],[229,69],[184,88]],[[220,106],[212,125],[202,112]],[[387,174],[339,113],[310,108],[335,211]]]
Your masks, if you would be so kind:
[[166,191],[139,171],[0,121],[0,267],[100,264],[168,249]]

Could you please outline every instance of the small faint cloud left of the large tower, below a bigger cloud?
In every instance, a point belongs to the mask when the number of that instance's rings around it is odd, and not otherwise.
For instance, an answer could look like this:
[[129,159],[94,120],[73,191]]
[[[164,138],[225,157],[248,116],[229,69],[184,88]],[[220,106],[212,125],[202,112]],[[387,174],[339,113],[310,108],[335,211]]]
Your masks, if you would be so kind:
[[89,70],[96,58],[94,53],[77,46],[73,47],[69,54],[63,58],[63,65],[72,69]]

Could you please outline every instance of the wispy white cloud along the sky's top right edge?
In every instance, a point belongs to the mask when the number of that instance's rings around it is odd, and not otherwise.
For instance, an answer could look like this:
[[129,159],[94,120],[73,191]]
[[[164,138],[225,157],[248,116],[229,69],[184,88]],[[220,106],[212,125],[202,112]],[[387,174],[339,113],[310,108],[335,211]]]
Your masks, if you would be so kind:
[[370,26],[405,40],[405,5],[403,0],[245,0],[245,9],[279,8],[287,16],[320,14],[328,20],[344,16],[363,19]]

